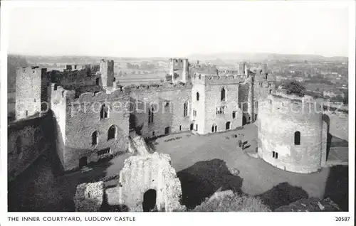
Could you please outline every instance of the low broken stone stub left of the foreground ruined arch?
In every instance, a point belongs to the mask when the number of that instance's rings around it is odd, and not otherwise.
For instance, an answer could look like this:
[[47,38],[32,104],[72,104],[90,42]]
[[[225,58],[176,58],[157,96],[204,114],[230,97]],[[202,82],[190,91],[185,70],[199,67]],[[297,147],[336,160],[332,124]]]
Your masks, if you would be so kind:
[[82,183],[74,196],[75,212],[98,212],[103,204],[104,182]]

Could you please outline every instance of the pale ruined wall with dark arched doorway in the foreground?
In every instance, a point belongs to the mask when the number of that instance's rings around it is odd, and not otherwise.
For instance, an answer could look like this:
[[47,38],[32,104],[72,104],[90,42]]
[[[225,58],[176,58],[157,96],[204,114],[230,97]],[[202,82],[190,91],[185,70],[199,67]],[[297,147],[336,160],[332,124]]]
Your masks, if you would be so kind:
[[130,211],[143,210],[144,194],[156,190],[156,205],[159,211],[179,209],[182,187],[167,154],[147,154],[130,156],[120,171],[118,203],[126,205]]

